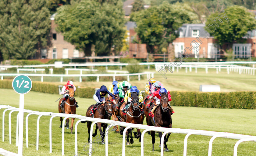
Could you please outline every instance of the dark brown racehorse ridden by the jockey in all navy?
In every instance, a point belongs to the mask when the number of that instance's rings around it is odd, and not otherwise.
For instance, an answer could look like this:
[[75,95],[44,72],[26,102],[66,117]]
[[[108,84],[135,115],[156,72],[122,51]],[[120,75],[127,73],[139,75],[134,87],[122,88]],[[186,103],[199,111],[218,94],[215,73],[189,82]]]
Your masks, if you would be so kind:
[[[87,109],[87,112],[86,112],[86,116],[87,117],[92,117],[90,115],[90,111],[92,109],[92,107],[94,106],[91,105],[88,109]],[[94,117],[95,118],[100,118],[100,119],[110,119],[111,115],[112,115],[112,108],[113,108],[113,104],[112,104],[112,101],[111,100],[106,100],[106,102],[101,105],[98,105],[97,107],[97,110],[94,110]],[[82,123],[85,123],[87,122],[87,128],[88,128],[88,143],[90,143],[90,132],[91,132],[91,121],[82,121]],[[103,132],[102,132],[102,129],[101,127],[103,127]],[[100,131],[100,134],[101,134],[101,144],[105,144],[104,142],[104,137],[105,137],[105,130],[106,128],[108,127],[108,124],[102,124],[102,123],[97,123],[96,124],[96,129],[95,129],[95,132],[94,134],[92,134],[93,137],[95,137],[97,135],[97,130],[99,129]]]

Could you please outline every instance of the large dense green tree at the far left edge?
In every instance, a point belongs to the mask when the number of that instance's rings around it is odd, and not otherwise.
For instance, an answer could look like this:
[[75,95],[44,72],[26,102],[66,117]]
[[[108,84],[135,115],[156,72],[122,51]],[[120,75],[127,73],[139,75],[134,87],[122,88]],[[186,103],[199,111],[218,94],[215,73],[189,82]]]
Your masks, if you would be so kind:
[[28,59],[47,46],[51,28],[45,0],[0,1],[0,46],[4,59]]

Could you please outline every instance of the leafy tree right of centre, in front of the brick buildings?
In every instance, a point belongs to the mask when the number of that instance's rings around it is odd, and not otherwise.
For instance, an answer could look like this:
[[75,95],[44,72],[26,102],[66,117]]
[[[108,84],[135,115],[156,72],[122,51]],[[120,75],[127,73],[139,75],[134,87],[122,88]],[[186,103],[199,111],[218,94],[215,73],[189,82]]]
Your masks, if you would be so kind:
[[165,48],[168,49],[169,44],[178,37],[176,30],[183,23],[198,21],[191,8],[185,9],[180,3],[171,5],[167,2],[136,13],[133,20],[137,24],[135,31],[141,43],[147,44],[149,53],[154,53],[163,42],[167,43]]

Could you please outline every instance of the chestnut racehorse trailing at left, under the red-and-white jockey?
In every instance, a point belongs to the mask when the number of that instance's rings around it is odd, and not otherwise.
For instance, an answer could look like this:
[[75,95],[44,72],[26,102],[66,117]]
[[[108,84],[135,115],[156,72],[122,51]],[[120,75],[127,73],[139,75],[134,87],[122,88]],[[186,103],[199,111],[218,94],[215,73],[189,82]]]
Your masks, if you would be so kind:
[[[75,92],[74,92],[74,89],[73,87],[71,86],[69,88],[68,86],[68,90],[69,90],[69,98],[66,100],[66,103],[63,105],[63,108],[60,107],[60,104],[62,102],[62,99],[59,100],[59,113],[66,113],[66,114],[76,114],[76,105],[75,105],[75,102],[74,102],[74,99],[75,99]],[[63,111],[62,111],[63,109]],[[63,118],[60,117],[60,128],[62,128],[62,120]],[[73,132],[73,123],[75,121],[75,118],[72,118],[72,121],[71,121],[71,127],[70,127],[70,130],[71,130],[71,134]],[[67,118],[67,122],[65,124],[65,127],[67,127],[67,129],[69,129],[69,118]]]

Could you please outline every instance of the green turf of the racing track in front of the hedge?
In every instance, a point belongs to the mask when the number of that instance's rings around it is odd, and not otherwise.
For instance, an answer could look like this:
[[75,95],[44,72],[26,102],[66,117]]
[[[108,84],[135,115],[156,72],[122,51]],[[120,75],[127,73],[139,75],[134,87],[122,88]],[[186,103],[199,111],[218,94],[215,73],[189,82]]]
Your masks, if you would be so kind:
[[[189,73],[188,73],[189,74]],[[2,102],[0,104],[19,107],[19,94],[14,90],[0,89],[2,93]],[[57,100],[60,95],[37,93],[30,91],[25,94],[24,109],[30,109],[42,112],[58,112]],[[85,115],[87,108],[94,104],[93,99],[76,98],[79,104],[77,114]],[[197,108],[197,107],[174,107],[175,113],[172,116],[173,128],[198,129],[208,131],[230,132],[237,134],[246,134],[256,136],[255,122],[256,110],[244,109],[215,109],[215,108]],[[4,109],[0,110],[2,114]],[[17,153],[16,147],[16,115],[12,114],[12,144],[9,144],[9,111],[5,113],[5,141],[1,141],[1,148]],[[25,116],[27,113],[25,113]],[[52,121],[52,153],[49,153],[49,116],[43,116],[40,120],[39,128],[39,150],[36,151],[36,122],[37,115],[29,117],[29,148],[26,147],[25,126],[23,138],[23,155],[61,155],[62,133],[59,128],[59,117]],[[78,119],[75,120],[75,123]],[[2,115],[0,115],[2,121]],[[75,125],[74,123],[74,125]],[[146,121],[144,120],[144,124]],[[2,126],[0,126],[2,134]],[[142,130],[141,130],[142,132]],[[98,132],[99,134],[99,132]],[[165,155],[183,155],[183,143],[186,134],[172,133],[167,143],[169,152]],[[0,135],[2,136],[2,135]],[[188,139],[187,155],[207,155],[208,143],[211,137],[192,135]],[[2,139],[2,138],[1,138]],[[83,150],[83,145],[87,143],[88,133],[87,124],[78,125],[78,154],[87,155]],[[122,136],[113,131],[109,132],[109,155],[122,154]],[[156,134],[155,152],[152,152],[151,136],[146,134],[144,138],[144,155],[160,155],[158,143],[160,139]],[[235,139],[216,138],[213,142],[212,155],[233,155]],[[98,144],[98,143],[96,143]],[[243,142],[238,147],[238,155],[256,155],[255,142]],[[65,155],[75,154],[74,134],[70,134],[69,129],[65,129]],[[94,148],[92,155],[105,155],[105,145],[99,144]],[[140,155],[140,142],[134,139],[134,144],[126,145],[126,155]]]

